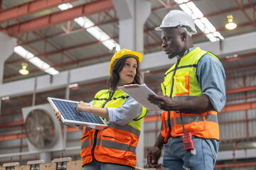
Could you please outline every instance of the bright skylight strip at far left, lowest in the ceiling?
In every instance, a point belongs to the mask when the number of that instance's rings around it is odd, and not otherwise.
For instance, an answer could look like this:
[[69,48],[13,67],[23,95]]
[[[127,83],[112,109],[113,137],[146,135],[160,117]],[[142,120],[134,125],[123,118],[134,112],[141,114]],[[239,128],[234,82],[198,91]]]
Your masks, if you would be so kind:
[[53,67],[50,67],[49,64],[47,64],[46,62],[43,62],[43,60],[41,60],[40,58],[35,57],[35,55],[33,55],[32,52],[29,52],[28,50],[26,50],[21,46],[14,47],[14,52],[16,52],[18,55],[20,55],[24,59],[28,60],[28,62],[31,62],[32,64],[34,64],[39,69],[43,69],[43,71],[48,74],[55,75],[59,73],[58,70],[54,69]]

